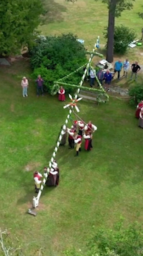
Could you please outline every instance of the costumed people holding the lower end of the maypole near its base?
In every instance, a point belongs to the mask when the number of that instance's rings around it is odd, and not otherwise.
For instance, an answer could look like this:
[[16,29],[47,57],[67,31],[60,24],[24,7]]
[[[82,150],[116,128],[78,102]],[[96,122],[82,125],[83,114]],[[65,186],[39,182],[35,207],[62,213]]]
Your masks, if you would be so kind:
[[[44,167],[44,173],[47,172],[47,167]],[[35,182],[35,193],[38,193],[41,186],[41,179],[43,178],[42,174],[40,172],[35,171],[33,174],[34,182]],[[56,160],[53,161],[52,167],[49,171],[48,178],[46,181],[46,185],[48,187],[57,187],[59,184],[59,168],[57,165]]]

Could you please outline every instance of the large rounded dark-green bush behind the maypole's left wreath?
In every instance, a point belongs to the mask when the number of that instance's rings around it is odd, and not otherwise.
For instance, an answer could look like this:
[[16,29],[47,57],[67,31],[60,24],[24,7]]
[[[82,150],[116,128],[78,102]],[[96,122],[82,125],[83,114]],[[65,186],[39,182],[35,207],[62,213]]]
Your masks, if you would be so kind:
[[[87,62],[86,50],[73,34],[38,38],[35,46],[29,49],[29,53],[33,78],[36,79],[40,74],[48,92],[51,92],[54,81],[70,74]],[[78,84],[82,74],[83,69],[64,82]],[[73,92],[71,87],[64,87],[66,92]]]

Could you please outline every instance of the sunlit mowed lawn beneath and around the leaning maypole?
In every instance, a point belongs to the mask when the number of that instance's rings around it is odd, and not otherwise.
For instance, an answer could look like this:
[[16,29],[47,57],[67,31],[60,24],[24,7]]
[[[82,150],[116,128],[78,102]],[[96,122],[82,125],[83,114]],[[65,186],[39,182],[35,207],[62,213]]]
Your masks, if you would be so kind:
[[115,98],[99,106],[79,103],[80,116],[98,127],[93,150],[85,152],[83,142],[75,158],[68,144],[60,148],[59,187],[45,187],[38,215],[27,214],[33,171],[48,165],[68,113],[57,96],[37,98],[30,79],[29,97],[22,97],[21,78],[30,72],[26,61],[0,69],[0,227],[10,229],[14,246],[21,245],[17,255],[41,250],[62,256],[72,246],[84,249],[94,229],[111,227],[121,216],[125,225],[142,222],[142,129],[135,109]]

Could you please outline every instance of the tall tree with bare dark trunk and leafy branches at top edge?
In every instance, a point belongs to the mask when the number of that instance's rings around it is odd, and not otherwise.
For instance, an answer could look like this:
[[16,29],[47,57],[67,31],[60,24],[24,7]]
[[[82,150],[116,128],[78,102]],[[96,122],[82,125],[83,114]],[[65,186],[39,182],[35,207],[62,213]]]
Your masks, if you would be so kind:
[[[96,0],[97,1],[97,0]],[[102,0],[107,4],[108,12],[108,39],[107,39],[107,55],[108,62],[113,62],[114,54],[114,26],[115,17],[121,16],[121,12],[124,10],[131,10],[133,7],[133,1],[135,0]]]

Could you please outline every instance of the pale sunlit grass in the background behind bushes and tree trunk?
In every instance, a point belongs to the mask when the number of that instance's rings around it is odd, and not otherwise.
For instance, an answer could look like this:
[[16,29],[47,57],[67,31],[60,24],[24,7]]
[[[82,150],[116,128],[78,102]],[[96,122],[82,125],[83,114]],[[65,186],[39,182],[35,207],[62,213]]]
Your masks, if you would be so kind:
[[[107,5],[101,0],[77,0],[74,4],[64,0],[47,0],[47,7],[50,12],[47,14],[47,23],[40,26],[41,34],[61,34],[73,33],[78,38],[85,40],[85,47],[89,50],[93,49],[97,36],[100,36],[101,49],[105,54],[104,46],[106,41],[103,36],[104,28],[108,25],[108,9]],[[115,19],[115,25],[125,25],[134,29],[137,39],[141,39],[141,29],[143,27],[142,19],[138,13],[142,12],[142,0],[133,2],[133,9],[124,11],[121,17]],[[139,61],[142,64],[142,47],[138,46],[129,49],[125,56],[115,55],[114,60],[126,57],[132,61]]]

